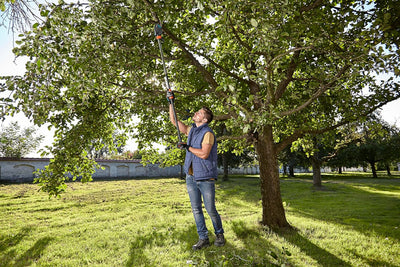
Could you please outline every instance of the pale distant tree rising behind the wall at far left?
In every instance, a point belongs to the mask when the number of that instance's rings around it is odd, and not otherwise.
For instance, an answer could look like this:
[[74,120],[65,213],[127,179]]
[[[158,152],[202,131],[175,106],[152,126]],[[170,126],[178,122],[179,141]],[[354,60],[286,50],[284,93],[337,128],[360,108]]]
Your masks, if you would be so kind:
[[43,139],[43,135],[36,135],[35,127],[21,129],[18,122],[12,122],[0,131],[0,156],[21,158],[35,150]]

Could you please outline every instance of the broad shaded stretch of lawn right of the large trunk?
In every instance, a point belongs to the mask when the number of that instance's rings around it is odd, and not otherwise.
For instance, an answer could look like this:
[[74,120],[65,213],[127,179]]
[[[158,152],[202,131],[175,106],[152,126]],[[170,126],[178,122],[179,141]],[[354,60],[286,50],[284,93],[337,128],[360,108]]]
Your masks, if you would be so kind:
[[301,180],[282,185],[283,199],[294,214],[350,226],[366,236],[374,232],[400,241],[396,230],[400,199],[391,194],[400,188],[398,179],[328,181],[324,183],[325,190],[315,190]]

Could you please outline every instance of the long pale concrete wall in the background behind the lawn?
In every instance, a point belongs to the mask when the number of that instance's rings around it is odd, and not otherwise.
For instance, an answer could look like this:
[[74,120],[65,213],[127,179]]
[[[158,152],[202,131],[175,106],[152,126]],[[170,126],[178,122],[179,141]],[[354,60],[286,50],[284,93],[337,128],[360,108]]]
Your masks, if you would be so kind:
[[[38,158],[0,158],[0,182],[33,181],[35,172],[44,169],[50,159]],[[97,160],[101,166],[96,169],[93,178],[139,178],[139,177],[181,177],[181,166],[160,168],[157,164],[143,166],[140,160]],[[182,170],[183,171],[183,170]],[[222,169],[218,170],[223,173]],[[230,174],[259,174],[258,166],[230,169]]]

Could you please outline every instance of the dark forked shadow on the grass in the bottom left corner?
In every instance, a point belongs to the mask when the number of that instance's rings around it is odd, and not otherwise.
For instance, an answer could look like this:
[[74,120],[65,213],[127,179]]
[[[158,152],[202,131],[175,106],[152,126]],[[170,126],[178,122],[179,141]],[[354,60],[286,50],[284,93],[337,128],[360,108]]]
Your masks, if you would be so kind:
[[35,242],[35,244],[25,251],[23,254],[18,255],[15,247],[25,238],[30,232],[31,228],[25,227],[14,236],[1,236],[0,237],[0,266],[28,266],[41,257],[43,251],[53,240],[51,237],[43,237]]

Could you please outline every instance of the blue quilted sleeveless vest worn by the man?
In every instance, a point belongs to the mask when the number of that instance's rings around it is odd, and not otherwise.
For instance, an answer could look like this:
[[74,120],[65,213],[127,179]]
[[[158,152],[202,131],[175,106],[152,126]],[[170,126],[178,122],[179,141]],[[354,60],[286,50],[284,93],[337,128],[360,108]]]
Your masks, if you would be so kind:
[[203,137],[207,132],[211,132],[214,135],[214,145],[211,148],[210,155],[207,159],[202,159],[195,156],[192,152],[186,152],[184,170],[185,173],[189,173],[190,165],[193,166],[193,176],[196,181],[206,180],[210,178],[217,179],[218,166],[217,166],[217,140],[215,134],[205,123],[200,127],[197,127],[193,123],[192,129],[190,129],[187,144],[193,148],[201,148]]

